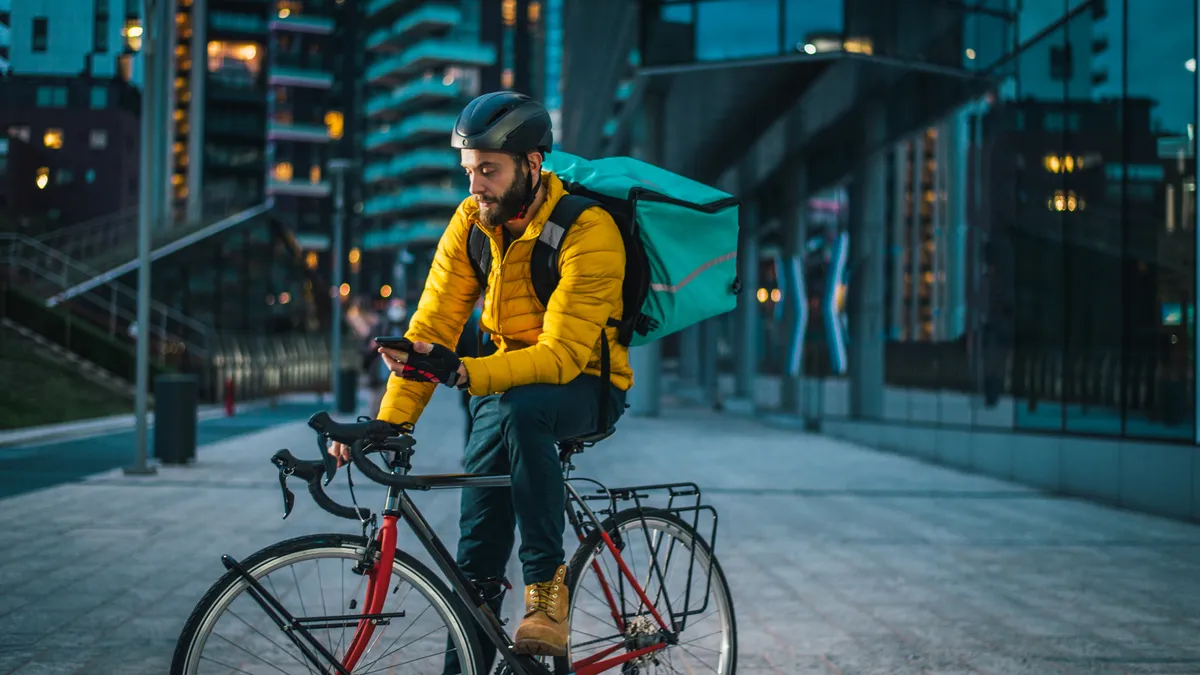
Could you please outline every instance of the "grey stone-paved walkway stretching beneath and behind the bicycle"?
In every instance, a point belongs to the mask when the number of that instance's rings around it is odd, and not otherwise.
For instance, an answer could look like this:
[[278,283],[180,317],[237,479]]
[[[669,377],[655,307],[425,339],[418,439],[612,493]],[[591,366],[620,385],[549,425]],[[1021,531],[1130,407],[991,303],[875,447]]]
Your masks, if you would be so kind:
[[[420,472],[457,470],[452,393],[418,432]],[[281,447],[317,452],[298,420],[0,500],[0,674],[163,675],[221,554],[353,531],[301,490],[280,520]],[[742,674],[1200,673],[1198,527],[708,411],[625,419],[576,464],[706,489]],[[457,495],[415,500],[452,550]]]

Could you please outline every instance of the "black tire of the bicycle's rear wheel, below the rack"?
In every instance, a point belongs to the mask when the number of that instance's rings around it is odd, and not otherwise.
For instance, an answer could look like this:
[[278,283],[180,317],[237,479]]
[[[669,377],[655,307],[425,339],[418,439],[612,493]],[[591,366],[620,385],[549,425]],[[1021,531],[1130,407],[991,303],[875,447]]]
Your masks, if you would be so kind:
[[[721,675],[736,675],[738,667],[738,631],[737,613],[733,609],[733,595],[730,592],[730,585],[725,579],[725,572],[721,569],[721,565],[718,562],[716,556],[713,555],[713,549],[709,546],[708,540],[696,532],[695,527],[689,525],[674,513],[658,508],[642,508],[641,510],[636,508],[623,509],[605,518],[601,521],[601,526],[610,537],[613,537],[622,531],[624,525],[635,521],[665,522],[690,538],[691,545],[695,546],[692,550],[700,550],[708,557],[712,566],[712,590],[713,592],[720,592],[725,596],[724,602],[730,609],[730,671]],[[580,548],[576,549],[575,554],[571,556],[570,563],[566,566],[566,589],[570,593],[572,604],[577,598],[580,579],[583,578],[588,561],[592,560],[592,552],[598,548],[604,548],[607,551],[604,539],[600,538],[600,532],[593,528],[593,531],[583,538],[583,542],[580,543]],[[568,640],[570,640],[570,638],[568,638]],[[568,644],[568,656],[554,658],[554,673],[557,675],[569,675],[572,673],[570,653],[570,644]]]

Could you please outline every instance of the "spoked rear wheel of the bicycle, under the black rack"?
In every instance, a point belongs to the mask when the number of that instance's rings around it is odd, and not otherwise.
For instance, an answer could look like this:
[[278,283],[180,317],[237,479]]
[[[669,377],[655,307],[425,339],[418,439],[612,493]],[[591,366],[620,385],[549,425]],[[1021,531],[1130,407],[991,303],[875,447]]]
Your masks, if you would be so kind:
[[589,533],[568,567],[570,638],[566,658],[556,659],[556,673],[575,673],[660,644],[656,613],[678,640],[613,673],[734,675],[733,596],[703,537],[674,513],[660,509],[625,509],[602,526],[650,602],[622,574],[600,532]]

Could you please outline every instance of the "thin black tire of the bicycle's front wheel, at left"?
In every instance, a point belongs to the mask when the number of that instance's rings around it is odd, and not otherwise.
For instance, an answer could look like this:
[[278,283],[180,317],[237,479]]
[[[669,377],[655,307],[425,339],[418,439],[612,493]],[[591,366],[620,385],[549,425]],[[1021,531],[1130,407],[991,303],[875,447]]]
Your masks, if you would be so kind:
[[[252,577],[257,578],[257,571],[268,567],[270,562],[284,556],[319,550],[358,550],[366,546],[366,537],[359,534],[306,534],[304,537],[296,537],[271,544],[256,551],[250,557],[240,562]],[[472,663],[474,675],[486,675],[484,673],[482,664],[482,647],[480,646],[479,637],[472,628],[475,620],[472,617],[470,611],[467,609],[467,605],[462,602],[462,599],[456,593],[450,591],[449,586],[446,586],[439,577],[434,575],[433,572],[425,566],[425,563],[400,549],[396,550],[396,557],[392,565],[404,569],[404,574],[409,577],[410,580],[424,583],[428,590],[437,596],[437,598],[430,598],[426,596],[431,603],[433,603],[434,599],[440,599],[445,603],[445,609],[449,611],[450,616],[444,616],[444,619],[452,620],[456,623],[455,626],[450,626],[448,621],[448,628],[456,631],[458,637],[463,639],[463,644],[466,644],[470,651],[470,657],[466,661]],[[392,569],[392,577],[394,579],[396,577],[395,567]],[[175,653],[170,664],[170,675],[187,675],[188,667],[191,665],[190,658],[192,655],[192,647],[196,643],[200,627],[205,625],[209,613],[212,611],[216,603],[235,585],[245,586],[246,583],[236,572],[230,569],[217,579],[217,581],[209,587],[208,592],[205,592],[200,601],[196,604],[192,614],[184,623],[184,628],[179,634],[179,640],[175,644]]]

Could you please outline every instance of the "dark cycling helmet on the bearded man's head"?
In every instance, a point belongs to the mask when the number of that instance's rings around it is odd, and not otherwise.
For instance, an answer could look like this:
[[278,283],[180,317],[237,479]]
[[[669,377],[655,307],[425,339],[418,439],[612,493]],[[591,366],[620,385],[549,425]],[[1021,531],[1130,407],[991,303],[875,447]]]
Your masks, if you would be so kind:
[[450,133],[450,145],[460,150],[550,153],[553,144],[550,113],[541,103],[516,91],[478,96],[458,113]]

